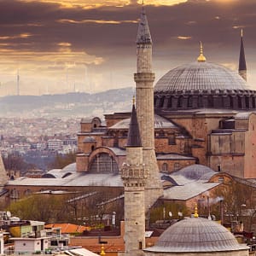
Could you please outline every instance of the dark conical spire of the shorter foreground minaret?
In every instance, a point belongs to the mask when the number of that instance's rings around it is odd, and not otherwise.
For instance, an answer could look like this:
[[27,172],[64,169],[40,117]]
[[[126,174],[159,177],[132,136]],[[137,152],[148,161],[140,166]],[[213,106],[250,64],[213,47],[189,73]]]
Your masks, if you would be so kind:
[[137,123],[137,112],[134,105],[134,98],[131,111],[131,121],[128,131],[127,147],[142,147],[140,131]]

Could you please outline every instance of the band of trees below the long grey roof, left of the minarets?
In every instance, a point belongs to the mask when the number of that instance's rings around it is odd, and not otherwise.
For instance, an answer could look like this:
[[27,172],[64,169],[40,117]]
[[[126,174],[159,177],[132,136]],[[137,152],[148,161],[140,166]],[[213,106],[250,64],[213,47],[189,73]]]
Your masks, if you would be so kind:
[[39,220],[45,223],[65,222],[73,224],[102,225],[104,214],[116,212],[116,221],[124,217],[124,201],[118,198],[122,189],[108,187],[84,188],[79,193],[65,195],[29,195],[11,203],[9,212],[21,219]]

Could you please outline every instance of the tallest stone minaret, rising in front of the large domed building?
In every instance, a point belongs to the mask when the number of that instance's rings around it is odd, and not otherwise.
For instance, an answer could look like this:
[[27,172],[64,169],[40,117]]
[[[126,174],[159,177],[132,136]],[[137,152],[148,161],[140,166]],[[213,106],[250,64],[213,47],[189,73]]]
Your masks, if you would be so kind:
[[137,31],[136,82],[137,120],[143,144],[143,162],[148,169],[145,187],[145,208],[151,207],[162,195],[159,168],[154,152],[154,73],[152,73],[152,39],[143,8]]

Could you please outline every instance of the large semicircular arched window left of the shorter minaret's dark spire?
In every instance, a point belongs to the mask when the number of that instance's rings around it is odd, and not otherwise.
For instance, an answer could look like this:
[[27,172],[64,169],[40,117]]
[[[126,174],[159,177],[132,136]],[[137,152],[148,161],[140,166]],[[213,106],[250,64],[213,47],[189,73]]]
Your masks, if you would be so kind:
[[91,161],[89,172],[118,173],[119,166],[113,157],[107,153],[96,154]]

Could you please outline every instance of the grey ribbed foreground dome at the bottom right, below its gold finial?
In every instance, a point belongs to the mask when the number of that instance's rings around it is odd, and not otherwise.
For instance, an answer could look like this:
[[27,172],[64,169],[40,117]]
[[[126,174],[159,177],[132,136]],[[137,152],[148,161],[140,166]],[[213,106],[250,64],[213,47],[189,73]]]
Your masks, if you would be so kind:
[[188,218],[173,224],[148,252],[200,253],[247,250],[229,230],[207,218]]

